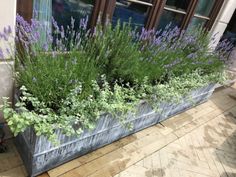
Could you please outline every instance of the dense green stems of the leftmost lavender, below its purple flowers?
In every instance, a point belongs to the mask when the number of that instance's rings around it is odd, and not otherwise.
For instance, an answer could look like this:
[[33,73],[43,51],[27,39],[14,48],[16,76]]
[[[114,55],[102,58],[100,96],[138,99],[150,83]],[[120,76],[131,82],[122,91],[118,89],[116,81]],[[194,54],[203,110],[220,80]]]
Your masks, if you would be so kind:
[[86,87],[84,95],[89,93],[89,85],[96,80],[98,70],[89,58],[80,51],[38,55],[25,59],[24,65],[17,68],[17,81],[40,101],[54,109],[58,108],[78,82]]

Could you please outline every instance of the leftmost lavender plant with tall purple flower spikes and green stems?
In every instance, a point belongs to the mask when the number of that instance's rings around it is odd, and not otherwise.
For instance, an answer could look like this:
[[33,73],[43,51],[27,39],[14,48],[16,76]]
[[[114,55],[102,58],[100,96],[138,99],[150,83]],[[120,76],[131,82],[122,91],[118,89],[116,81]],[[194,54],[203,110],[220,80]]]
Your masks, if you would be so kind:
[[[31,94],[46,105],[58,109],[62,99],[78,82],[86,87],[87,95],[92,80],[98,76],[94,60],[82,50],[88,38],[86,20],[81,21],[80,31],[71,27],[58,27],[53,20],[54,32],[47,32],[47,40],[40,41],[43,26],[35,20],[31,24],[17,16],[19,47],[16,53],[17,83],[24,85]],[[22,46],[22,47],[21,47]]]

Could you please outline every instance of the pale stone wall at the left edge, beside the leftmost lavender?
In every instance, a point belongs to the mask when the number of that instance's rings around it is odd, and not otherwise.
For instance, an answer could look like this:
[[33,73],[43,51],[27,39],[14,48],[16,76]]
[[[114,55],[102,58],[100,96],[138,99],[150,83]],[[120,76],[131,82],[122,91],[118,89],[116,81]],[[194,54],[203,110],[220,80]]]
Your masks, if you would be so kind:
[[[11,26],[14,34],[15,18],[16,18],[16,0],[2,0],[0,6],[0,31],[3,31],[4,27]],[[14,45],[14,41],[9,41],[11,45]],[[9,45],[9,42],[1,41],[0,46],[5,47]],[[9,56],[5,54],[5,58],[0,58],[0,105],[2,103],[2,97],[11,97],[13,92],[13,80],[11,72],[12,61]],[[2,113],[0,112],[0,122],[4,122]],[[7,137],[10,136],[9,131]]]

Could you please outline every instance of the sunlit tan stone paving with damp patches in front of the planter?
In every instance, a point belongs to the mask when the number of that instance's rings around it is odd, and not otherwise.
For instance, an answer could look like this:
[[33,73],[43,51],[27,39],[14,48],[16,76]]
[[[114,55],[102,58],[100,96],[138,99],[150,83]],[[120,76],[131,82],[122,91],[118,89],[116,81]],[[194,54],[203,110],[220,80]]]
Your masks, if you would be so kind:
[[[0,176],[27,176],[13,143]],[[74,159],[41,177],[236,177],[236,85],[161,124]]]

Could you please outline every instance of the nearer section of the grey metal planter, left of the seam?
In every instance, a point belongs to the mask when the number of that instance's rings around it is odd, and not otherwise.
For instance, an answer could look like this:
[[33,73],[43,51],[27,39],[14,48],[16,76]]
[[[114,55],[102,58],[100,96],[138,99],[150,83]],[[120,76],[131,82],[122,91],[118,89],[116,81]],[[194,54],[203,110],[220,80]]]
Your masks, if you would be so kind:
[[[88,152],[96,150],[102,146],[119,140],[122,137],[133,134],[144,128],[155,125],[160,119],[160,114],[152,111],[147,103],[139,105],[140,111],[136,115],[130,114],[126,124],[131,124],[132,129],[127,129],[121,125],[116,119],[109,115],[99,119],[97,127],[93,131],[85,131],[79,138],[77,136],[67,137],[62,132],[56,132],[60,140],[60,146],[54,147],[48,140],[43,137],[35,136],[35,147],[27,146],[30,151],[24,151],[22,158],[25,166],[32,169],[28,172],[35,176],[47,171],[55,166],[63,164],[76,157],[82,156]],[[27,141],[28,132],[21,134],[21,140]],[[18,137],[19,138],[19,137]],[[27,148],[26,148],[27,149]],[[34,150],[32,152],[32,150]],[[30,153],[32,152],[32,153]]]

